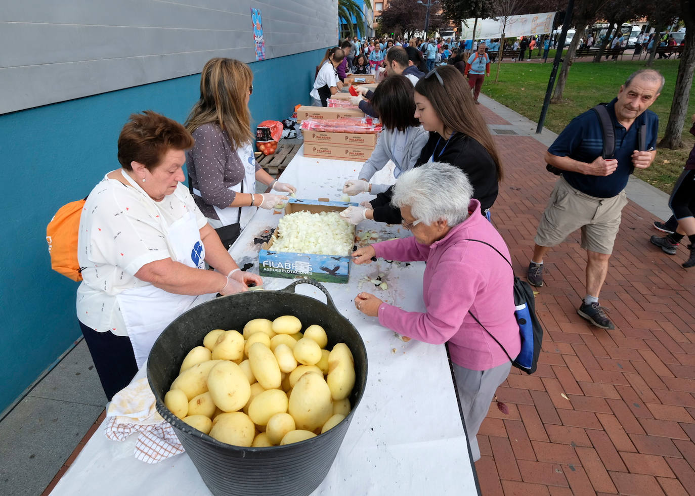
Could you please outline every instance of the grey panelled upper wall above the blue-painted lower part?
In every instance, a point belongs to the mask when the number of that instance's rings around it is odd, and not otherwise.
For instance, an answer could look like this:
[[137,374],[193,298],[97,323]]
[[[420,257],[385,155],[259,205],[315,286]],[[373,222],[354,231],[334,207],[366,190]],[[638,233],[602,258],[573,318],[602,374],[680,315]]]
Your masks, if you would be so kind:
[[[197,74],[214,56],[256,60],[329,47],[337,0],[0,0],[0,113]],[[318,63],[318,60],[317,60]]]

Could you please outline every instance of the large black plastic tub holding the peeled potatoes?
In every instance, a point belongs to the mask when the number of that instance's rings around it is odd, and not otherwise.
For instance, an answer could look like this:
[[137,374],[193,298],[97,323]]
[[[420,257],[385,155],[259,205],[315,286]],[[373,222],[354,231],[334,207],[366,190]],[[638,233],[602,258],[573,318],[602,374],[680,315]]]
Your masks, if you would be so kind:
[[[324,304],[312,297],[297,295],[300,283],[320,288]],[[350,395],[352,411],[333,429],[301,443],[273,447],[238,447],[193,429],[164,405],[164,395],[179,374],[191,348],[202,345],[212,329],[237,329],[254,318],[270,320],[296,315],[306,329],[322,326],[328,336],[327,349],[344,342],[354,356],[355,384]],[[367,353],[357,329],[338,313],[327,290],[309,279],[292,283],[279,291],[250,291],[219,297],[183,313],[157,338],[147,361],[147,380],[156,398],[157,411],[172,424],[181,444],[195,464],[200,477],[214,495],[309,495],[325,479],[367,379]]]

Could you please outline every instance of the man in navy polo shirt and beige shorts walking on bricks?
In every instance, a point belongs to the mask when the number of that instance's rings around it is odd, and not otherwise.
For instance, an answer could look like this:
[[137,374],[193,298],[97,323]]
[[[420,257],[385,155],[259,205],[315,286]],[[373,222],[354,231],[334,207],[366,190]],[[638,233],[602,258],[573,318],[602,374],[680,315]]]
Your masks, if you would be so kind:
[[[546,162],[563,172],[539,222],[528,281],[543,286],[543,257],[550,247],[581,229],[581,247],[587,250],[587,295],[577,313],[603,329],[614,329],[614,325],[599,306],[598,294],[608,272],[621,211],[628,203],[624,191],[628,177],[635,167],[649,167],[656,156],[659,118],[647,109],[663,86],[664,76],[653,69],[641,69],[607,105],[615,133],[613,158],[601,156],[603,133],[593,110],[572,119],[546,151]],[[643,146],[647,151],[639,151],[642,126],[646,126]]]

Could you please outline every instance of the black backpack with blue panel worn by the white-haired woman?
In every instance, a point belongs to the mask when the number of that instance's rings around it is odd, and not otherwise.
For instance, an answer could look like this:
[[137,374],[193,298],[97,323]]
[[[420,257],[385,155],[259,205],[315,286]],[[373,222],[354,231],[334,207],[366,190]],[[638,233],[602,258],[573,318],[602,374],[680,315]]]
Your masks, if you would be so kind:
[[[512,263],[507,260],[507,257],[502,255],[500,250],[493,247],[490,243],[481,240],[466,241],[477,241],[483,245],[488,245],[505,259],[509,267],[512,267]],[[514,267],[512,267],[512,272],[514,272]],[[475,322],[500,345],[500,348],[505,352],[505,355],[507,355],[507,358],[509,358],[509,361],[512,362],[514,367],[523,370],[527,374],[533,374],[536,372],[538,356],[541,353],[543,327],[536,316],[536,302],[533,289],[528,282],[522,281],[518,276],[514,276],[514,306],[514,316],[516,317],[516,323],[519,326],[519,334],[521,335],[521,350],[516,358],[509,356],[509,353],[507,353],[505,347],[502,346],[502,343],[500,343],[490,331],[485,329],[485,326],[480,323],[480,320],[477,320],[477,317],[475,317],[470,310],[468,310],[468,313],[470,313],[473,320],[475,320]]]

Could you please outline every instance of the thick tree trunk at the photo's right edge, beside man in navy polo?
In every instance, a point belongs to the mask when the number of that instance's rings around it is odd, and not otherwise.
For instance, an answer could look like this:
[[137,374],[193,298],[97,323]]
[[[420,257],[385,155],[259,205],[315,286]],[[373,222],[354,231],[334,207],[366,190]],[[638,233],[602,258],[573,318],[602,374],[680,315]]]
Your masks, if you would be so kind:
[[[688,24],[690,24],[688,26]],[[685,22],[686,31],[695,31],[695,22]],[[693,71],[695,70],[695,36],[685,37],[685,47],[680,56],[678,66],[678,76],[676,76],[676,88],[673,90],[673,100],[671,101],[671,113],[669,122],[666,125],[664,138],[659,142],[660,148],[682,148],[683,147],[683,124],[688,119],[688,101],[690,98],[690,88],[693,82]],[[688,119],[689,121],[689,119]]]

